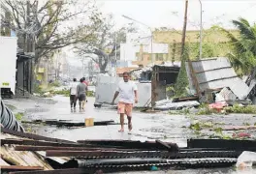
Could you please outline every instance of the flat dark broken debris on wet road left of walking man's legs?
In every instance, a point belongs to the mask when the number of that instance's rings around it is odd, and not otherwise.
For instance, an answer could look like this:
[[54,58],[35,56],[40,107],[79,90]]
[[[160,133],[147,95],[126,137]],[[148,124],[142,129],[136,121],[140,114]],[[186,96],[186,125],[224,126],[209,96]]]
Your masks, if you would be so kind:
[[[33,121],[21,121],[26,124],[46,124],[55,125],[57,127],[84,127],[84,122],[72,121],[72,120],[33,120]],[[96,121],[94,126],[107,126],[107,125],[119,125],[119,123],[114,123],[112,120],[108,121]]]

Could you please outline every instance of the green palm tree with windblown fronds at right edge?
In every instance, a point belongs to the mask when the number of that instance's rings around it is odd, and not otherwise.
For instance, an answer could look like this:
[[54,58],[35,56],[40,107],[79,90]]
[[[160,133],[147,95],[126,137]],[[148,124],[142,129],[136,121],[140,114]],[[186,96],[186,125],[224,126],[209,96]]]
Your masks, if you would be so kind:
[[241,17],[239,20],[233,20],[232,23],[239,29],[239,37],[221,28],[232,46],[227,56],[238,73],[248,74],[256,66],[256,24],[250,25],[246,19]]

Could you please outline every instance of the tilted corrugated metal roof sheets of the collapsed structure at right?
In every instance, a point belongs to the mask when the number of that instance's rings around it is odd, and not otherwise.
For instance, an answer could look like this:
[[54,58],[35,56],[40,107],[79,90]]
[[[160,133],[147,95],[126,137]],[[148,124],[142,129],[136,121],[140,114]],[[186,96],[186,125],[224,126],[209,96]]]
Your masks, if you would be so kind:
[[[201,91],[229,87],[240,100],[246,98],[249,87],[235,73],[228,58],[218,57],[192,61],[192,67],[196,73]],[[195,92],[196,89],[193,85],[188,63],[186,63],[186,70],[189,78],[189,87]]]

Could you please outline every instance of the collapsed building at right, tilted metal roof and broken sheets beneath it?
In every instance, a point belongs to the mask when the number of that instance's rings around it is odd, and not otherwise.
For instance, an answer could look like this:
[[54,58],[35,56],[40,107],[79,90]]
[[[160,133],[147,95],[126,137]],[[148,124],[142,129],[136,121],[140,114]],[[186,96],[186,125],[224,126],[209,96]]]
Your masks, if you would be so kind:
[[225,101],[242,101],[248,97],[248,85],[240,79],[228,58],[188,61],[186,71],[190,92],[200,96],[201,102],[215,102],[216,93]]

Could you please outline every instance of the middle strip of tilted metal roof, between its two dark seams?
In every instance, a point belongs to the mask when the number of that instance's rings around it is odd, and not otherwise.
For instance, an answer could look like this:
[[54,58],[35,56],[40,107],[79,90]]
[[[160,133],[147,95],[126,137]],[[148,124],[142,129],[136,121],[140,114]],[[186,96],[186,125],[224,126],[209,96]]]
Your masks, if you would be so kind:
[[228,68],[228,69],[214,70],[214,71],[205,72],[205,73],[197,73],[196,76],[199,83],[204,83],[211,80],[234,77],[234,76],[237,76],[237,73],[235,73],[234,69]]

